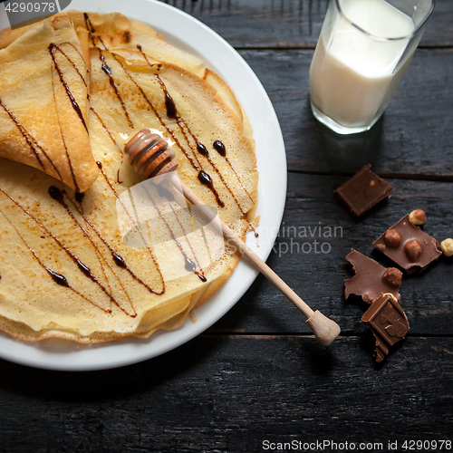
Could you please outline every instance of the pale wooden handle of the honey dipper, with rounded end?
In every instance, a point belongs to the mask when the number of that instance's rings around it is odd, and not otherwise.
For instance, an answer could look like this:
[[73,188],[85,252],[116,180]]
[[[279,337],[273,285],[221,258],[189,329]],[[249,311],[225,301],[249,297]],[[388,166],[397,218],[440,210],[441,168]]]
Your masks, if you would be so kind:
[[[184,197],[190,201],[193,205],[204,205],[204,202],[198,198],[198,196],[188,188],[182,181],[178,179],[177,174],[174,172],[172,174],[168,174],[172,184],[178,188],[182,188],[182,192]],[[222,232],[226,239],[230,241],[230,243],[234,244],[238,250],[241,252],[242,255],[245,255],[246,258],[255,265],[255,268],[258,269],[261,274],[265,275],[265,277],[275,285],[275,287],[286,296],[286,298],[292,302],[295,307],[304,313],[304,316],[307,318],[307,325],[313,331],[314,336],[323,345],[327,345],[340,334],[340,326],[332,321],[331,319],[327,318],[323,315],[323,313],[319,311],[313,312],[313,310],[304,303],[304,301],[294,293],[294,291],[284,283],[284,281],[275,274],[275,272],[265,264],[265,262],[255,254],[255,252],[246,245],[246,243],[240,239],[236,233],[227,226],[224,222],[221,222],[222,225]]]

